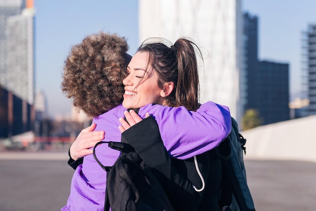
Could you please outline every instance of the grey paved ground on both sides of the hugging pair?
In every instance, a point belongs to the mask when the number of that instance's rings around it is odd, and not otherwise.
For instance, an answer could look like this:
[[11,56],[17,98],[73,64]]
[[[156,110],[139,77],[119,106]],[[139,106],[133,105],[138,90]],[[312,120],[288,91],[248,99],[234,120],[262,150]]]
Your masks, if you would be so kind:
[[[66,160],[66,152],[0,152],[0,210],[60,210],[73,174]],[[246,160],[245,164],[257,211],[316,211],[316,163]]]

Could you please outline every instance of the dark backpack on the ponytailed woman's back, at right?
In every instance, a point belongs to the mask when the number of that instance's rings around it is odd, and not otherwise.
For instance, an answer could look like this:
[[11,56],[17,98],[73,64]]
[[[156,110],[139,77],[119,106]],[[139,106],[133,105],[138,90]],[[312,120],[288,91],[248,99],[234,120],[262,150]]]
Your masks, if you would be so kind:
[[246,139],[239,133],[238,124],[232,118],[230,135],[215,148],[222,162],[220,206],[229,206],[226,210],[255,211],[243,160],[245,144]]

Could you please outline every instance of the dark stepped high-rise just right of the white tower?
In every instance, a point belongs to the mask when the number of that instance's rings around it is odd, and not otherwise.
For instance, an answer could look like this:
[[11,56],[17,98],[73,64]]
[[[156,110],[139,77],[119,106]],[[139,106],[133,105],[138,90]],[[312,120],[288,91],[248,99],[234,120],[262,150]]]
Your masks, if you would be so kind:
[[289,65],[258,59],[258,18],[243,15],[244,35],[244,111],[255,109],[262,124],[290,118]]

